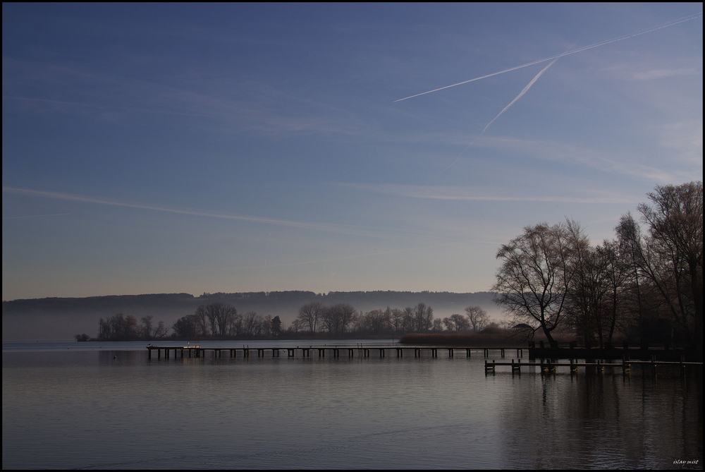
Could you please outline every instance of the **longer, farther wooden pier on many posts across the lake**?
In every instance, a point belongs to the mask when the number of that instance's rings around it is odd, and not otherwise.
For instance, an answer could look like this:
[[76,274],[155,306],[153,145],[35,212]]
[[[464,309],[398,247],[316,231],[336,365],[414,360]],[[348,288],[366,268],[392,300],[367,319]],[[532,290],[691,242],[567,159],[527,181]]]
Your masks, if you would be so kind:
[[360,357],[369,357],[372,351],[379,351],[379,357],[386,357],[387,351],[390,353],[395,353],[396,356],[401,358],[404,356],[404,351],[414,351],[414,357],[422,357],[422,353],[426,353],[426,356],[431,358],[437,358],[439,356],[439,351],[448,351],[448,357],[455,357],[455,351],[465,351],[465,357],[470,358],[472,351],[482,351],[484,357],[489,357],[490,351],[499,351],[502,358],[505,356],[505,351],[514,350],[517,351],[517,358],[524,357],[524,350],[526,348],[507,348],[507,347],[467,347],[467,346],[400,346],[395,344],[393,346],[380,346],[374,344],[357,344],[356,346],[286,346],[286,347],[202,347],[202,346],[147,346],[149,351],[149,358],[152,358],[152,351],[157,351],[157,359],[161,359],[161,351],[164,351],[164,358],[168,359],[173,352],[173,357],[184,358],[188,356],[189,358],[200,358],[205,357],[207,351],[212,351],[213,357],[223,357],[223,351],[226,351],[231,358],[238,357],[238,354],[243,358],[249,358],[252,351],[257,351],[257,357],[264,357],[264,353],[271,351],[271,357],[280,357],[280,353],[286,351],[287,357],[311,357],[311,352],[318,352],[318,357],[325,357],[326,351],[329,355],[334,358],[341,356],[341,351],[345,353],[347,351],[348,357],[354,357],[357,354]]

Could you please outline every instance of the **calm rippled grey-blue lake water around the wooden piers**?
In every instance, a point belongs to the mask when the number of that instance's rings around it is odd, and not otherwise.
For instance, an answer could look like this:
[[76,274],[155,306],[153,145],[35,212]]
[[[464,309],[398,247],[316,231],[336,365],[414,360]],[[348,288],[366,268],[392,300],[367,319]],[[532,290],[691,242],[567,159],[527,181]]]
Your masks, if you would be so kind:
[[482,351],[149,360],[145,345],[3,343],[3,468],[702,468],[701,368],[486,375]]

